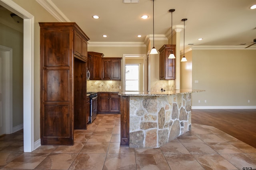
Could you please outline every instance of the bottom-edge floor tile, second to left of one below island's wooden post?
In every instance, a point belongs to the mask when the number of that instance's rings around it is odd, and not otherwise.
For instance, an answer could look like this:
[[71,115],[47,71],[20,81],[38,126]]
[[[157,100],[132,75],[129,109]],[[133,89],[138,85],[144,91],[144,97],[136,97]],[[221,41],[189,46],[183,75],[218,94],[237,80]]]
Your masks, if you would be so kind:
[[36,169],[68,170],[78,154],[50,154]]

